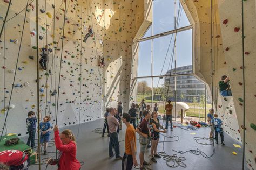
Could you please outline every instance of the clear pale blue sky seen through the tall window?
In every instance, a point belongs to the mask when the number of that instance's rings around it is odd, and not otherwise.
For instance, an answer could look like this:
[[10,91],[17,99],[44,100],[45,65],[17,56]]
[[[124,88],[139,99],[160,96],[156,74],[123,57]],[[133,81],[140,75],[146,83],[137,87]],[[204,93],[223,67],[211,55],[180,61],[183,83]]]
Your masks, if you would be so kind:
[[[180,6],[178,28],[190,25],[181,4],[179,5],[178,0],[176,2],[177,15]],[[143,37],[151,36],[152,32],[154,35],[173,30],[174,9],[174,0],[154,0],[153,23]],[[153,75],[164,75],[167,70],[174,68],[174,60],[172,65],[170,62],[174,47],[174,36],[173,34],[153,39]],[[170,48],[167,52],[169,44]],[[177,67],[192,65],[192,30],[177,33],[176,53]],[[151,76],[151,40],[140,42],[138,62],[137,76]],[[142,79],[138,79],[138,81],[142,81]],[[151,85],[151,79],[146,79],[146,81],[148,85]],[[157,87],[158,81],[159,78],[153,79],[153,87]],[[164,79],[160,79],[158,86],[161,86],[161,84],[164,84]]]

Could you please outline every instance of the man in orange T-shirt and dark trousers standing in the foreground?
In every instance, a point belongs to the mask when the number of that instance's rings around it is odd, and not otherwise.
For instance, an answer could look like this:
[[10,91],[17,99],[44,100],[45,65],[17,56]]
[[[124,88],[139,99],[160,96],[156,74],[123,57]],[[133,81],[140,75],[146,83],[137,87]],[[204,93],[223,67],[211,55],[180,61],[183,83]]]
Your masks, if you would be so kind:
[[138,166],[136,159],[136,136],[133,125],[130,124],[131,116],[123,114],[122,121],[126,125],[125,152],[122,160],[122,170],[131,170],[132,166]]

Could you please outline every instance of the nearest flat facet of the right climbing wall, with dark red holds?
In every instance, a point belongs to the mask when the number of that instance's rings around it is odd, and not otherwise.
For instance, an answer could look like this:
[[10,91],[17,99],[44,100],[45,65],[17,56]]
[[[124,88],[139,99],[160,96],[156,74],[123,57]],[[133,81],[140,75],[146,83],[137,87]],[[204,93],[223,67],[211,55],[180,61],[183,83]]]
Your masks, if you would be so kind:
[[[231,77],[233,101],[241,136],[245,106],[245,154],[250,169],[256,169],[256,117],[255,117],[255,39],[256,39],[256,2],[244,1],[244,37],[242,37],[241,1],[218,1],[220,27],[228,74]],[[228,9],[228,10],[227,10]],[[232,13],[228,11],[233,11]],[[234,12],[235,11],[235,12]],[[242,65],[242,38],[244,38],[244,69]],[[245,83],[243,82],[245,78]],[[245,98],[243,98],[245,86]]]

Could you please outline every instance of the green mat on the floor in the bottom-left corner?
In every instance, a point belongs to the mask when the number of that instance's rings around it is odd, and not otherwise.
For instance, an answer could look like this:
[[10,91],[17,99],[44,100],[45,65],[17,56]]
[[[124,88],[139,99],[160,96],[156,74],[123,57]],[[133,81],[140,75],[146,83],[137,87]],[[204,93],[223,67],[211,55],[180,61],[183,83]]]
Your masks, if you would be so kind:
[[[12,134],[11,136],[3,136],[1,141],[0,141],[0,152],[5,151],[5,150],[19,150],[19,151],[24,151],[29,147],[28,145],[26,145],[22,140],[19,140],[18,143],[16,145],[4,145],[5,141],[11,139],[11,138],[17,138],[18,136],[16,134]],[[32,150],[32,155],[30,156],[30,164],[35,164],[36,162],[36,154],[35,152]]]

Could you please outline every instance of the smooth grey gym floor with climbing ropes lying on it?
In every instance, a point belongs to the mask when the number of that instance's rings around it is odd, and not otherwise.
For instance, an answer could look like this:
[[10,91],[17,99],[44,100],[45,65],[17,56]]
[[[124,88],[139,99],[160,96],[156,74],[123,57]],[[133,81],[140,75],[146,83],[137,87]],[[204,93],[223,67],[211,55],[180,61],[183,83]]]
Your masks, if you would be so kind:
[[[88,122],[80,124],[80,132],[77,138],[77,159],[79,161],[84,161],[84,165],[81,169],[122,169],[121,160],[115,160],[114,158],[109,159],[108,146],[109,138],[105,135],[104,138],[100,136],[99,133],[92,132],[96,128],[103,126],[103,119],[98,121]],[[123,125],[124,127],[125,125]],[[77,136],[78,126],[69,127]],[[63,130],[63,129],[61,129]],[[173,132],[168,130],[167,136],[179,136],[179,141],[166,142],[164,143],[164,149],[167,154],[174,154],[173,150],[187,151],[191,149],[199,148],[201,151],[205,152],[207,155],[211,155],[213,152],[213,145],[200,145],[196,143],[193,139],[194,137],[208,137],[209,128],[201,128],[198,131],[185,131],[180,128],[174,128]],[[190,133],[196,133],[194,135]],[[138,138],[138,134],[136,134]],[[23,138],[26,140],[26,138]],[[125,128],[119,133],[119,141],[125,139]],[[167,140],[174,140],[167,138]],[[163,136],[160,137],[160,141],[163,141]],[[205,170],[215,170],[215,169],[242,169],[242,149],[235,148],[233,144],[239,144],[230,138],[227,134],[224,134],[224,142],[226,146],[215,145],[215,154],[212,158],[206,159],[201,155],[194,155],[191,153],[179,154],[186,158],[184,163],[187,165],[186,169],[205,169]],[[124,141],[120,142],[120,153],[124,153]],[[240,144],[241,145],[241,144]],[[139,141],[137,140],[137,153],[139,153]],[[55,152],[55,147],[49,147],[49,152]],[[163,143],[159,143],[158,152],[163,151]],[[238,154],[233,155],[232,152],[235,151]],[[145,158],[149,161],[150,149],[147,149],[145,153]],[[42,158],[53,157],[55,158],[55,153],[48,153],[47,156],[42,155]],[[139,162],[138,154],[137,161]],[[152,165],[149,166],[151,169],[171,169],[167,167],[166,161],[163,159],[157,159],[157,163],[151,162]],[[45,165],[41,166],[41,169],[45,169]],[[29,169],[38,169],[38,165],[32,165]],[[57,169],[57,166],[49,166],[47,169]],[[133,168],[135,169],[135,168]],[[183,167],[176,167],[175,169],[184,169]]]

